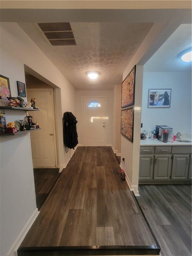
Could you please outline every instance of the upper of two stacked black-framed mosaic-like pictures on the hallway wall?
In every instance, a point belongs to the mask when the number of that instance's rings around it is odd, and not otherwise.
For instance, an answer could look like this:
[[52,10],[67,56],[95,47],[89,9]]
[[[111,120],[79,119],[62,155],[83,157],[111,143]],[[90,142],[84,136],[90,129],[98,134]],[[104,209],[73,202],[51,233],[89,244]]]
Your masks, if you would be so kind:
[[134,105],[135,101],[135,72],[136,65],[123,80],[121,85],[121,107]]

